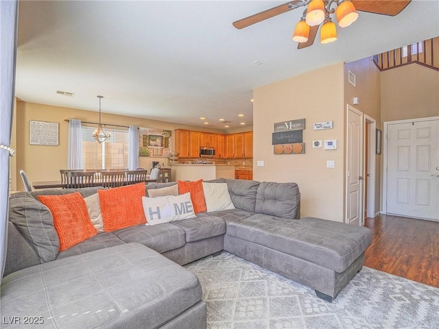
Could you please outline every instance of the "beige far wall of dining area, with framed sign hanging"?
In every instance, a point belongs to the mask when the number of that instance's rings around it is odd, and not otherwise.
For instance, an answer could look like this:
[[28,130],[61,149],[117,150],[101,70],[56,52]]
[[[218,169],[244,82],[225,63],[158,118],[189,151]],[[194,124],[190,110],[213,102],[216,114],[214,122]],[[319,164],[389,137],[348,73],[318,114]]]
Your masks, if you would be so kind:
[[[68,141],[68,123],[64,119],[81,119],[82,121],[96,122],[98,120],[97,112],[78,110],[74,108],[61,108],[58,106],[48,106],[37,103],[28,103],[17,101],[16,111],[16,128],[19,132],[16,136],[16,172],[24,169],[31,182],[42,180],[60,180],[60,169],[67,169],[67,141]],[[51,121],[60,123],[59,127],[59,145],[30,145],[29,144],[29,121]],[[165,121],[155,121],[148,119],[139,119],[126,117],[116,114],[102,114],[102,122],[117,125],[137,125],[139,127],[152,127],[164,130],[174,130],[177,128],[198,130],[224,134],[222,130],[213,130],[204,127],[193,127],[190,125],[178,125]],[[15,135],[15,134],[14,134]],[[174,141],[174,134],[173,134]],[[175,145],[175,143],[173,143]],[[152,168],[152,161],[167,163],[163,157],[140,157],[139,167],[148,169]],[[17,191],[23,191],[23,182],[16,177]]]

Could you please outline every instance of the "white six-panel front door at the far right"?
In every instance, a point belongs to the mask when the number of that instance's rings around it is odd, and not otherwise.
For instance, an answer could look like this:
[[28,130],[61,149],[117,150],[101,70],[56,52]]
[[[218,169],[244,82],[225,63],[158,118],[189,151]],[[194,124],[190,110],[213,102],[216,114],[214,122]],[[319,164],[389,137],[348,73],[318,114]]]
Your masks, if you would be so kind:
[[387,213],[439,220],[439,120],[388,125]]

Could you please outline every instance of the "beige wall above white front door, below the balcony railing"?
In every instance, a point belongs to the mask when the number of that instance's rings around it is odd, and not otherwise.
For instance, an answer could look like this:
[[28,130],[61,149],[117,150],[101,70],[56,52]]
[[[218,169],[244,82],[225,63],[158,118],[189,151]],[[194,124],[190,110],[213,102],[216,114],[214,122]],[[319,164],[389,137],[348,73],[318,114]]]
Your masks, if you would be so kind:
[[381,72],[381,119],[439,116],[439,71],[419,64]]

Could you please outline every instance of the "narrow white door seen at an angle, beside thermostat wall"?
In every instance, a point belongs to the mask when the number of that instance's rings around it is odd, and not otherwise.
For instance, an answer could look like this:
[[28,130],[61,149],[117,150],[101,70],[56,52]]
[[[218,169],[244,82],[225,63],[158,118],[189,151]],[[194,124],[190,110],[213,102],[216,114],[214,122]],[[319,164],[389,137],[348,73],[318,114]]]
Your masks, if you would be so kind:
[[363,225],[363,113],[348,106],[347,118],[346,217]]

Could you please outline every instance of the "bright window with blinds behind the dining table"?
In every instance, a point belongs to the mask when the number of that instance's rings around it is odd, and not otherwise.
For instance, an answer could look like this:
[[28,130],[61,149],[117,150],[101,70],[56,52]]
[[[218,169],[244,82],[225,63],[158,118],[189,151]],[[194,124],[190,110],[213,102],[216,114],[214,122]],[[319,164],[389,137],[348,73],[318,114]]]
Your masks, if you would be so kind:
[[105,128],[111,137],[102,144],[93,138],[96,127],[82,126],[84,169],[128,168],[128,130]]

